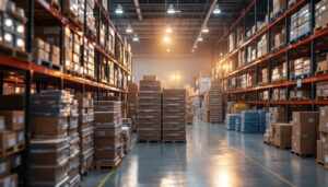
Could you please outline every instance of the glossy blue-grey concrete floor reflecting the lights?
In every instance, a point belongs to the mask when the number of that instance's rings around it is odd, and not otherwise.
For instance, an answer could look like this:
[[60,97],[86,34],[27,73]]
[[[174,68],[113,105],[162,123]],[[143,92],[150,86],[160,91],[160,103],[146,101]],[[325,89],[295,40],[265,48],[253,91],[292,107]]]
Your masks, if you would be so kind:
[[94,171],[82,186],[326,186],[315,159],[262,143],[261,135],[195,120],[184,143],[133,143],[117,171]]

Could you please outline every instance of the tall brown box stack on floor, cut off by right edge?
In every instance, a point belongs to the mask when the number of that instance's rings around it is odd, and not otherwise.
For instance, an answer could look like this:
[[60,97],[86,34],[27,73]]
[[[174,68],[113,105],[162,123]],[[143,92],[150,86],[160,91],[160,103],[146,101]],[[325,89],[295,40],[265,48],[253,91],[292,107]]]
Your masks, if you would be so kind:
[[320,107],[317,162],[328,168],[328,106]]

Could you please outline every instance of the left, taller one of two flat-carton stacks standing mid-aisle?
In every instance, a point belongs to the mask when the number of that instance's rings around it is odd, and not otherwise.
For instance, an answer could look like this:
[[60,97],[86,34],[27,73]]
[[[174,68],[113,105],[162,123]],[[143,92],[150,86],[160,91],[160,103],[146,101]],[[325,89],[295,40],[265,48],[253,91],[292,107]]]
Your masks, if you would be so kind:
[[138,141],[161,141],[163,83],[156,75],[143,75],[138,92]]

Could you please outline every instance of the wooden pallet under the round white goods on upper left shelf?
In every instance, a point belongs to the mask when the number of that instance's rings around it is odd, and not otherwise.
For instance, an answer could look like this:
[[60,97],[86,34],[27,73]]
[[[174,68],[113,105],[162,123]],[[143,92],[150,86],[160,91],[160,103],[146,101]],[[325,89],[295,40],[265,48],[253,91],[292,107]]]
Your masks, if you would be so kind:
[[15,49],[7,44],[0,44],[0,54],[5,55],[22,61],[32,61],[32,55],[19,49]]

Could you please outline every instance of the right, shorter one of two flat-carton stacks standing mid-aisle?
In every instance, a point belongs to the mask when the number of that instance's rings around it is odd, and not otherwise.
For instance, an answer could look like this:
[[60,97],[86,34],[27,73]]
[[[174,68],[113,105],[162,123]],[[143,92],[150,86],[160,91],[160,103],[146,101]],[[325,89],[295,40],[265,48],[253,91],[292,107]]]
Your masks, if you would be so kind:
[[186,90],[163,90],[163,142],[186,141]]

